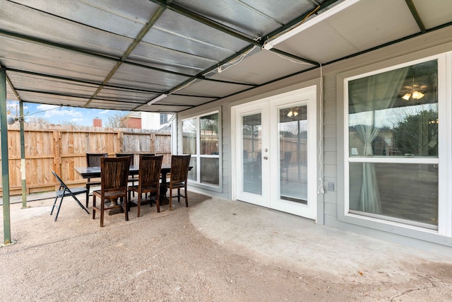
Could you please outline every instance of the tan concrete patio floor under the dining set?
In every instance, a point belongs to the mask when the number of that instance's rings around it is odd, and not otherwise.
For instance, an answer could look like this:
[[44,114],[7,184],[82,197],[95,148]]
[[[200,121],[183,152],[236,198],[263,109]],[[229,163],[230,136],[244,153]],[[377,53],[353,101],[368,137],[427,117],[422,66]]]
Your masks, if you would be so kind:
[[290,214],[189,192],[100,228],[71,198],[54,222],[47,197],[11,198],[4,301],[452,301],[452,257]]

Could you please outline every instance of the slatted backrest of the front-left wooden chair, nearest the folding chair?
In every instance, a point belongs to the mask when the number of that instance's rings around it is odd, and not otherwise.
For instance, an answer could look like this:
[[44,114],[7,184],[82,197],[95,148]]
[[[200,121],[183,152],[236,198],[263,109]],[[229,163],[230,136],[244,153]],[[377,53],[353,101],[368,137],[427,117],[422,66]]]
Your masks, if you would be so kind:
[[100,158],[100,190],[127,190],[130,158]]

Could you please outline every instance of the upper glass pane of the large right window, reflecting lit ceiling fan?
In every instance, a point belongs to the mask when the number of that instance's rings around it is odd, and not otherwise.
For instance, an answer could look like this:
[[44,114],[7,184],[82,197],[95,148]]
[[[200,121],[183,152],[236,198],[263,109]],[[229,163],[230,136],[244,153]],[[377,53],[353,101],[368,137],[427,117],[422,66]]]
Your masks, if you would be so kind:
[[349,95],[350,156],[438,156],[436,60],[350,81]]

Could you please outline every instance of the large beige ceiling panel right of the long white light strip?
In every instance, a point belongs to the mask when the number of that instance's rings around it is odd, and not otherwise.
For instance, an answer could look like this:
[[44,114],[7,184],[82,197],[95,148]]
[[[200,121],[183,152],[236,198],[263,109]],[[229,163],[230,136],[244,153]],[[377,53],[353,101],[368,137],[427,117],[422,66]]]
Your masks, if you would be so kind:
[[275,48],[326,63],[419,31],[404,0],[361,0]]

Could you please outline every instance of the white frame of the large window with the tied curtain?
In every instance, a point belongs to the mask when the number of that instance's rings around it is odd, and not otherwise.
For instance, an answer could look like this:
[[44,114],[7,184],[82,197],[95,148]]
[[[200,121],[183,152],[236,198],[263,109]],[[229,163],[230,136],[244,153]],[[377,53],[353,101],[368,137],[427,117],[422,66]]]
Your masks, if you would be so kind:
[[[400,58],[388,60],[386,62],[380,62],[379,66],[383,64],[386,66],[382,69],[376,69],[376,64],[367,66],[365,68],[367,72],[363,72],[363,69],[355,69],[352,71],[338,74],[336,83],[338,87],[338,101],[342,98],[342,111],[343,115],[340,117],[338,114],[338,126],[343,127],[342,139],[338,137],[338,161],[343,163],[343,170],[338,170],[339,175],[343,175],[342,185],[342,197],[341,201],[338,199],[338,220],[346,223],[353,223],[359,226],[367,228],[374,228],[380,231],[388,231],[390,233],[396,233],[403,236],[409,236],[412,238],[419,238],[422,240],[429,240],[434,243],[447,244],[452,246],[452,105],[451,105],[451,84],[452,84],[452,52],[446,52],[442,54],[435,54],[429,57],[422,57],[420,59],[405,61],[400,64]],[[420,158],[400,158],[400,157],[358,157],[354,158],[349,154],[349,112],[348,112],[348,82],[354,79],[360,79],[366,76],[372,76],[374,74],[380,74],[393,69],[410,66],[413,64],[419,64],[436,59],[438,61],[438,118],[441,121],[439,123],[438,136],[438,157],[420,157]],[[396,62],[397,64],[391,64]],[[449,100],[449,102],[447,101]],[[338,106],[338,110],[341,109]],[[340,111],[338,111],[340,112]],[[444,122],[443,122],[444,121]],[[338,134],[340,134],[340,127],[338,128]],[[430,229],[421,226],[414,226],[412,224],[406,224],[398,221],[388,221],[374,216],[363,216],[360,214],[350,213],[350,163],[427,163],[438,164],[438,177],[439,177],[439,192],[438,192],[438,228]],[[429,233],[426,238],[426,233]],[[444,237],[448,237],[445,243]]]

